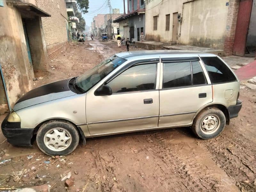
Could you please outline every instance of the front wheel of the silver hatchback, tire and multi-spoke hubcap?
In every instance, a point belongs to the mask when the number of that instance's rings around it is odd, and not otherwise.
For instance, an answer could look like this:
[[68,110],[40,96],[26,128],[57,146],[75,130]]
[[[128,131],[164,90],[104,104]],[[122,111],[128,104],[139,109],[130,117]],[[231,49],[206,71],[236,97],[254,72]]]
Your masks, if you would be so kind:
[[40,126],[36,142],[46,155],[68,155],[76,149],[79,135],[75,125],[62,120],[51,120]]

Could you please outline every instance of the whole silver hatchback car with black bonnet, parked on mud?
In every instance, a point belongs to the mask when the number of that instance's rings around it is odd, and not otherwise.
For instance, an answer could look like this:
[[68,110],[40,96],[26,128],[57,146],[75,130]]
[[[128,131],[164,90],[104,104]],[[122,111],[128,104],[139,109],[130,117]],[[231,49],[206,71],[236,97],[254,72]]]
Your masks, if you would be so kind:
[[242,108],[239,81],[208,53],[122,52],[82,76],[23,95],[2,123],[14,145],[67,155],[79,140],[191,126],[202,139],[218,136]]

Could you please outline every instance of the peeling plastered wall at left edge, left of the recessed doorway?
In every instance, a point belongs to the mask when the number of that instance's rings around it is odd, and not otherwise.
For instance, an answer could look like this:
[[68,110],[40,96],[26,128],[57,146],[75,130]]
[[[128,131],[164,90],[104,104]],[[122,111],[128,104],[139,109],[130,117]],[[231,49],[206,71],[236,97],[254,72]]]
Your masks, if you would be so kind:
[[[16,7],[0,7],[0,64],[10,104],[33,86],[33,66],[29,63],[21,14]],[[5,21],[5,22],[3,22]]]

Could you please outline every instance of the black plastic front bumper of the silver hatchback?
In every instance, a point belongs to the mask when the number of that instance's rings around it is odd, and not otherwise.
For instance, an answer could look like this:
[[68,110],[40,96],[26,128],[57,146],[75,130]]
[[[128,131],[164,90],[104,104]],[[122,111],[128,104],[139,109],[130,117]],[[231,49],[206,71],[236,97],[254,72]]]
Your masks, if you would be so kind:
[[13,145],[32,146],[31,138],[34,129],[21,128],[20,122],[10,123],[7,121],[8,116],[5,117],[1,126],[7,141]]

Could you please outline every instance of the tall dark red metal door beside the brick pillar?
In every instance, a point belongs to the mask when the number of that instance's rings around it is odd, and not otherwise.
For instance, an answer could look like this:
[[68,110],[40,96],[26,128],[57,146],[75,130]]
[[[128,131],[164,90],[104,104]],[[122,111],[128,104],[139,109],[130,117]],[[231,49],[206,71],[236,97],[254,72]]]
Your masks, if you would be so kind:
[[240,0],[233,46],[234,55],[244,56],[251,12],[252,0]]

